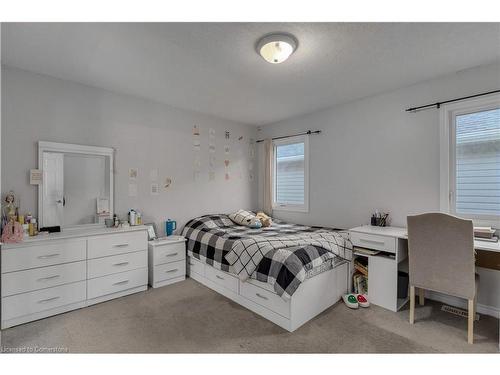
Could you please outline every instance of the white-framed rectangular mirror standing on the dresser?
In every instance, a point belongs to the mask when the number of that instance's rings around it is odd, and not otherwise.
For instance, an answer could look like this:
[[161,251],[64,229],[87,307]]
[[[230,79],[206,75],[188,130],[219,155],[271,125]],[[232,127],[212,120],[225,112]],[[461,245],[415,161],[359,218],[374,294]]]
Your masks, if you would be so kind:
[[38,142],[40,227],[103,225],[113,217],[113,149]]

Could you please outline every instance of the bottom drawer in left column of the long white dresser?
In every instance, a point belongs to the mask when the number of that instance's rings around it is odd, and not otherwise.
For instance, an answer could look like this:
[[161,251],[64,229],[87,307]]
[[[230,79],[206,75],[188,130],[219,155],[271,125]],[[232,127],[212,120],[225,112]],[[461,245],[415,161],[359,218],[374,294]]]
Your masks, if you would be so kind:
[[85,301],[85,281],[2,298],[2,320]]

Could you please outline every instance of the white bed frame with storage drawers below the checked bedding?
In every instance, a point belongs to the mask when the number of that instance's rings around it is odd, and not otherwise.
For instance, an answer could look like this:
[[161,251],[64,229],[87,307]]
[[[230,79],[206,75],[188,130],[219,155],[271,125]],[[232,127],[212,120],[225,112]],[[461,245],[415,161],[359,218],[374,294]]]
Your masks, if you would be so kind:
[[348,290],[349,262],[305,280],[288,301],[278,296],[270,284],[242,282],[198,259],[188,257],[187,266],[192,279],[289,332],[335,304]]

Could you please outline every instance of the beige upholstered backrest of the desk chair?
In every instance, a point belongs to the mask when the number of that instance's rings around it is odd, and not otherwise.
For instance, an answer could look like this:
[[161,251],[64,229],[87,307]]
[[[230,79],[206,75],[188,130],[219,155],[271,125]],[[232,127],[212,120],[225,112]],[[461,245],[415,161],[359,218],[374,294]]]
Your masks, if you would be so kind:
[[472,299],[474,227],[442,213],[408,216],[410,285]]

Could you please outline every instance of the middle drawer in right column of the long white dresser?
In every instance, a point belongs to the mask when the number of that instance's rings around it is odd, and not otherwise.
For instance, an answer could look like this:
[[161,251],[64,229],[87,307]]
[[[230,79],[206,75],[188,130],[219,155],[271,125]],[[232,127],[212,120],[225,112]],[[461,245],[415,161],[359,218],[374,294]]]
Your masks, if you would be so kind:
[[107,276],[118,272],[145,268],[148,265],[148,252],[136,251],[134,253],[113,255],[104,258],[89,259],[87,274],[89,279]]

